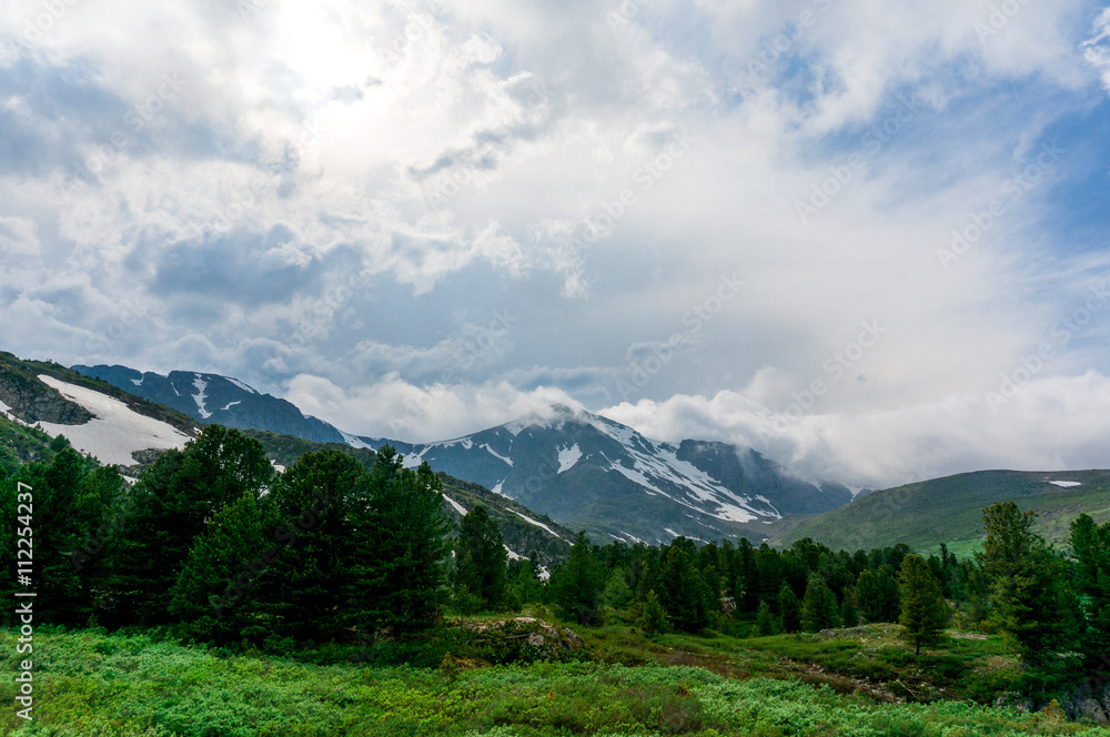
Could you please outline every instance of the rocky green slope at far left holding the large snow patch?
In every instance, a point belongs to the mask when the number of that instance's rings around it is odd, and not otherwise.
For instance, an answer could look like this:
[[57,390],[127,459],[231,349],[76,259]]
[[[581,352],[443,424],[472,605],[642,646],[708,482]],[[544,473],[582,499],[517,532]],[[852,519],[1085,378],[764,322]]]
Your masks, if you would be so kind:
[[111,384],[3,352],[0,420],[7,463],[44,457],[37,443],[49,446],[49,438],[63,435],[77,450],[131,473],[151,453],[183,447],[200,432],[190,417]]

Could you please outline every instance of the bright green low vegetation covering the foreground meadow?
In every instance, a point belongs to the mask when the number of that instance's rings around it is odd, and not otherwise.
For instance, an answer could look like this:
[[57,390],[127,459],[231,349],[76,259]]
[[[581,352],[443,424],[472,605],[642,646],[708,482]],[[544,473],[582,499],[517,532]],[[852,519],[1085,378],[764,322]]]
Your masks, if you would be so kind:
[[[4,734],[29,737],[248,737],[325,735],[763,735],[987,737],[1110,730],[1058,715],[942,700],[884,704],[860,694],[779,677],[730,678],[705,667],[650,663],[538,663],[473,669],[310,665],[261,655],[219,656],[149,635],[36,633],[36,720],[9,707]],[[16,670],[14,635],[0,636]],[[633,647],[603,633],[614,648]],[[650,647],[700,646],[718,656],[745,643],[662,638]],[[831,657],[850,648],[817,639],[765,638],[755,655]],[[650,649],[650,647],[648,649]],[[660,650],[660,653],[666,650]],[[10,678],[0,700],[13,704]]]

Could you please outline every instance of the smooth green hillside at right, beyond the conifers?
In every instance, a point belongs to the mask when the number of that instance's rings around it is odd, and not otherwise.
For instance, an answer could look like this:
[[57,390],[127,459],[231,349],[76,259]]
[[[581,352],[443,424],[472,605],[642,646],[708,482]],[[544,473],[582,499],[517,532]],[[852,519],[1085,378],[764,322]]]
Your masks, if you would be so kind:
[[[1080,485],[1061,487],[1053,481]],[[969,555],[983,538],[983,507],[1007,501],[1037,512],[1035,531],[1063,544],[1080,513],[1110,521],[1110,471],[979,471],[907,484],[833,512],[784,519],[769,543],[785,546],[811,537],[848,551],[905,543],[926,554],[946,543],[957,555]]]

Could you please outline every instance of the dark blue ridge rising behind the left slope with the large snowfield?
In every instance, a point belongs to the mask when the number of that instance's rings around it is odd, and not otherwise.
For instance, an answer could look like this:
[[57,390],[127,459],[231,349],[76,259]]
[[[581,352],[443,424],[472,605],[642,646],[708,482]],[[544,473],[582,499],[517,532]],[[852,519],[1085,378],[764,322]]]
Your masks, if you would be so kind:
[[204,424],[266,430],[319,443],[346,442],[346,436],[326,422],[306,416],[292,403],[258,392],[230,376],[192,371],[171,371],[163,376],[118,365],[77,365],[73,371],[172,407]]

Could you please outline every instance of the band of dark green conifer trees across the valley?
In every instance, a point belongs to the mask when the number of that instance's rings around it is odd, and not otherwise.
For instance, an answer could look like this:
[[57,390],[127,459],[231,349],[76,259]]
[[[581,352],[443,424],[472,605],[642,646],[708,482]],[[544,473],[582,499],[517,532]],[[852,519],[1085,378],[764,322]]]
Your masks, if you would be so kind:
[[[444,613],[545,606],[649,635],[735,635],[900,623],[920,652],[952,617],[1007,634],[1030,689],[1110,669],[1110,524],[1080,515],[1070,554],[1012,503],[985,509],[981,553],[941,545],[849,553],[805,538],[601,546],[579,533],[565,561],[509,556],[482,506],[455,529],[427,464],[391,447],[364,466],[337,451],[279,473],[262,445],[208,426],[134,484],[72,450],[0,479],[0,544],[14,551],[16,485],[34,488],[40,622],[169,626],[198,642],[365,642],[434,627]],[[512,557],[512,559],[509,559]],[[546,578],[546,579],[545,579]],[[16,561],[3,587],[19,588]],[[12,624],[11,614],[6,615]]]

